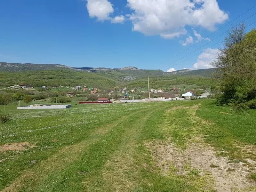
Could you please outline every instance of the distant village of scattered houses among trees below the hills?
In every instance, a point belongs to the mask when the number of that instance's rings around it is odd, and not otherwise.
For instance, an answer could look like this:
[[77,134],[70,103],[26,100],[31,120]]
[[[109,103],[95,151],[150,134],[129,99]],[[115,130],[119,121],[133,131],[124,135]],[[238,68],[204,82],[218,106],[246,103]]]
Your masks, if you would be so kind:
[[[34,87],[20,84],[9,87],[11,89],[24,89],[35,90]],[[207,98],[212,93],[209,90],[197,89],[197,90],[184,90],[178,87],[162,88],[162,89],[150,89],[145,90],[141,87],[127,89],[106,89],[100,90],[97,87],[87,87],[77,85],[75,87],[47,87],[43,85],[39,91],[48,91],[50,89],[67,88],[65,93],[66,97],[87,97],[87,100],[107,102],[107,101],[121,101],[121,102],[146,102],[146,101],[167,101],[167,100],[190,100],[197,98]],[[37,88],[38,90],[38,88]],[[149,98],[150,94],[150,98]],[[62,92],[63,96],[63,92]],[[86,100],[85,100],[86,101]]]

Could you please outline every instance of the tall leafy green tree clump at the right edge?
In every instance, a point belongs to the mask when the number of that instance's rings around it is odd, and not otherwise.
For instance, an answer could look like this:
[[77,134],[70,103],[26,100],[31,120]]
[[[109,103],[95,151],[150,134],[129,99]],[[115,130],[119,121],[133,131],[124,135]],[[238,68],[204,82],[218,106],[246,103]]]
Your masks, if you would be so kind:
[[[245,33],[245,25],[232,28],[224,40],[218,59],[222,94],[218,104],[247,103],[256,98],[256,30]],[[243,105],[244,106],[244,105]]]

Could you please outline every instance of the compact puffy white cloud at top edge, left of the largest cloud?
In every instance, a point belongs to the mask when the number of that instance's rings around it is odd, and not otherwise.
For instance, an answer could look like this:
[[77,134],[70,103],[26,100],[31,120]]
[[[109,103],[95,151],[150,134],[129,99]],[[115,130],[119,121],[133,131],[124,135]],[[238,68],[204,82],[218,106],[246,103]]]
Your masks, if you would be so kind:
[[110,20],[109,15],[114,12],[113,5],[108,0],[87,0],[89,16],[99,21]]

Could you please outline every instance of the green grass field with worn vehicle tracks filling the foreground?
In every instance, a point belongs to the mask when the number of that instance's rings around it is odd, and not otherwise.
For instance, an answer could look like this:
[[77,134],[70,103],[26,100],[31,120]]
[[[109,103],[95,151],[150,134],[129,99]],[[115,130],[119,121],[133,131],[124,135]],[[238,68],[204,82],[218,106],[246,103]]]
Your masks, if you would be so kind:
[[[214,100],[0,106],[0,191],[256,191],[256,111]],[[9,149],[9,150],[8,150]]]

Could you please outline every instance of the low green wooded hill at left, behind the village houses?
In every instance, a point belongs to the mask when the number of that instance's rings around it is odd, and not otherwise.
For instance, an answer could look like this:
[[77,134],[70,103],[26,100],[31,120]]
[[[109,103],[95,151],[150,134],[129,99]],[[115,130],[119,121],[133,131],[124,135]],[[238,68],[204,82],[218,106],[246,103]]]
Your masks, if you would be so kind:
[[75,70],[44,70],[44,71],[19,71],[0,72],[0,86],[12,86],[26,84],[38,86],[76,86],[87,85],[96,87],[115,87],[120,84],[114,78],[100,76],[98,74]]

